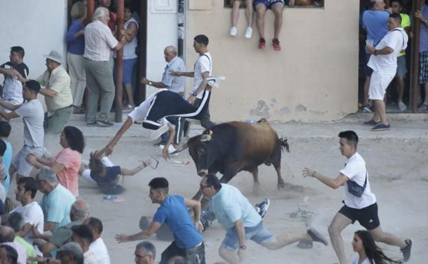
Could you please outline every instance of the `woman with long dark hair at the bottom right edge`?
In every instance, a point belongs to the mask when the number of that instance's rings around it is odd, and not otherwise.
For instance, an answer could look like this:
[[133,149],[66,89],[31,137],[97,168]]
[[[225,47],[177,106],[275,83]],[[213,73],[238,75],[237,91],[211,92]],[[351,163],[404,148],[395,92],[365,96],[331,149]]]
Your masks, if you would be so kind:
[[355,232],[352,241],[353,250],[358,253],[350,264],[387,264],[401,263],[394,261],[383,254],[382,250],[376,245],[370,232],[358,230]]

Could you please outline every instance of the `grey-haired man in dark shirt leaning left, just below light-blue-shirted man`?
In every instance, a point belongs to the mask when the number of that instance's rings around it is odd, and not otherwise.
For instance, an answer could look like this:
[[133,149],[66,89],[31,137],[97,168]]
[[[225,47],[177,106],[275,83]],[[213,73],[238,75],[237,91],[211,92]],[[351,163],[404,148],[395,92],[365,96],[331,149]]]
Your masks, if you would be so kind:
[[40,232],[34,230],[34,237],[37,237],[34,241],[35,245],[38,245],[43,254],[47,255],[52,251],[60,248],[64,243],[67,243],[73,232],[71,228],[73,226],[78,226],[83,224],[84,220],[88,218],[89,215],[89,205],[84,200],[77,200],[71,206],[70,219],[71,223],[61,226],[55,232],[52,232],[52,235],[41,234]]

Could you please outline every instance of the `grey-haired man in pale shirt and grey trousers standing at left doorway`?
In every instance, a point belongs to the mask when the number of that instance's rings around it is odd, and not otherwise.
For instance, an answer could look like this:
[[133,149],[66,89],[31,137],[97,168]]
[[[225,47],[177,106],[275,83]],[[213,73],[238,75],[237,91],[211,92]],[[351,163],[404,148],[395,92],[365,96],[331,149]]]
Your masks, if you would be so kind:
[[[115,98],[115,83],[110,64],[111,50],[118,51],[126,43],[123,36],[120,42],[113,36],[108,21],[110,20],[107,8],[99,7],[93,14],[93,22],[84,29],[85,48],[84,63],[86,69],[86,85],[88,86],[88,119],[87,125],[112,126],[108,121],[108,113]],[[97,106],[101,93],[99,119]]]

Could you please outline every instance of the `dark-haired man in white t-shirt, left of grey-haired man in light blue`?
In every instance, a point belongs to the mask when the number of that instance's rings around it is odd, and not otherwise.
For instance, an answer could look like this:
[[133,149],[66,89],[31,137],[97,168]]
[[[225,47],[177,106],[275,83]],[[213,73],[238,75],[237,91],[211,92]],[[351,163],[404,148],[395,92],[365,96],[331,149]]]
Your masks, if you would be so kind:
[[[20,178],[16,184],[15,198],[21,202],[21,206],[14,208],[10,213],[20,213],[25,223],[23,230],[20,232],[20,236],[30,244],[34,241],[34,232],[32,227],[37,228],[38,232],[43,232],[43,225],[45,219],[43,217],[43,210],[34,201],[37,193],[37,182],[34,178]],[[38,256],[43,256],[42,252],[34,245],[34,250]]]

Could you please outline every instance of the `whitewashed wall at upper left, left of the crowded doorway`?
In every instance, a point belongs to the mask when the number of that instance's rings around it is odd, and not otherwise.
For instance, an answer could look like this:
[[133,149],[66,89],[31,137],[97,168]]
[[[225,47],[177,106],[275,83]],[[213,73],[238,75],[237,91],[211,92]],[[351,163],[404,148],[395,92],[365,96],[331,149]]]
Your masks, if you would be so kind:
[[67,0],[0,0],[0,29],[0,64],[9,61],[10,47],[21,46],[34,79],[45,71],[44,55],[52,49],[65,61]]

